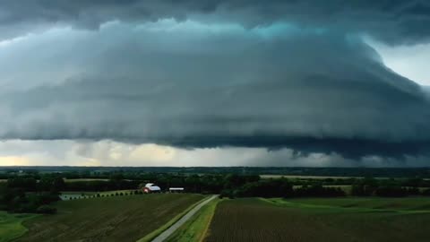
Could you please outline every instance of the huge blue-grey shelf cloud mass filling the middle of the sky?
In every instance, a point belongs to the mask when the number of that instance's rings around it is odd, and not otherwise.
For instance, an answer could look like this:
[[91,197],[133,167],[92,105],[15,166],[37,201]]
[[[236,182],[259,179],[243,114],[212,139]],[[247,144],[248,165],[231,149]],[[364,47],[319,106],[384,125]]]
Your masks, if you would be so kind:
[[[425,89],[337,30],[110,22],[96,32],[48,31],[8,51],[0,57],[6,140],[428,154]],[[21,74],[8,73],[11,60],[21,60]]]

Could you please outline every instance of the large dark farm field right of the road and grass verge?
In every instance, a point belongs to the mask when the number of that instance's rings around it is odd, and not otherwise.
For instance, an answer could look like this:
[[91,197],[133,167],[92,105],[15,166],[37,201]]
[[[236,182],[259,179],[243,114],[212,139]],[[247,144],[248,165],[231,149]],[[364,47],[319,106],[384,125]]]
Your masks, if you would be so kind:
[[205,241],[428,241],[430,199],[235,199]]

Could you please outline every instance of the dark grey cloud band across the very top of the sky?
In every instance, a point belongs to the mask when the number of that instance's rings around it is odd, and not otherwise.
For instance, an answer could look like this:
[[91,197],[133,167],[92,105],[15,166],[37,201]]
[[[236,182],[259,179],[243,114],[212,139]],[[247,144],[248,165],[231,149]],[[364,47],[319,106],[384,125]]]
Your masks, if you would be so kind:
[[5,39],[52,26],[96,30],[105,22],[167,18],[236,22],[247,28],[290,22],[302,28],[368,34],[393,45],[415,44],[430,37],[426,0],[2,0],[0,5],[0,38]]

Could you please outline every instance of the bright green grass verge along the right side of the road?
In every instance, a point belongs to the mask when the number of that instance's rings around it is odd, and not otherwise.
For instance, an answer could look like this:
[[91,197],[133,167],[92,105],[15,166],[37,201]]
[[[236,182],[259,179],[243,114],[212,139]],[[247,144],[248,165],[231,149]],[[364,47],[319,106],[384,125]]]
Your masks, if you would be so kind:
[[216,198],[204,205],[183,226],[176,230],[166,241],[168,242],[200,242],[205,238],[213,214],[220,199]]

